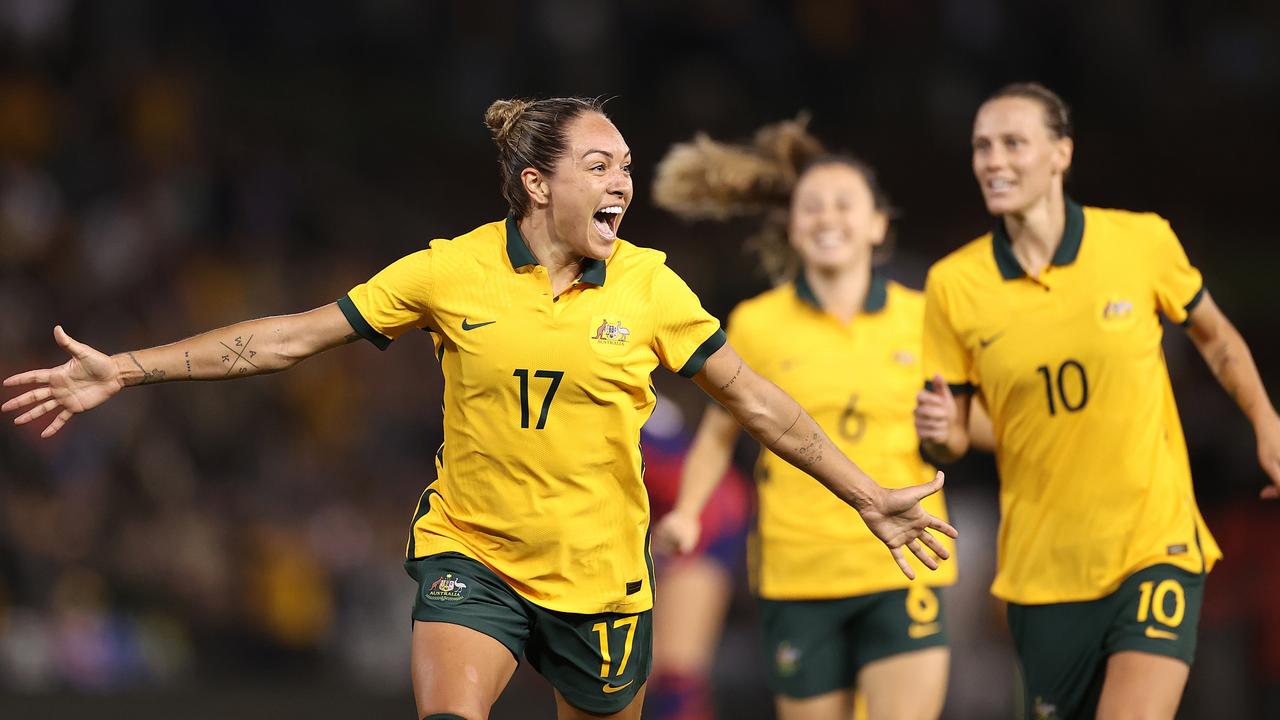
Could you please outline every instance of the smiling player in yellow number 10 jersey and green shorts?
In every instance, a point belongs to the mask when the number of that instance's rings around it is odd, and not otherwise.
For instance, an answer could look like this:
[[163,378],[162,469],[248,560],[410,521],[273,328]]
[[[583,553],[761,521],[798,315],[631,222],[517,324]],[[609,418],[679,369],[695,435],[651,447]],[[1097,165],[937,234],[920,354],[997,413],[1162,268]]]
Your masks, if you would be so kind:
[[1280,418],[1169,223],[1064,193],[1073,150],[1066,105],[1041,85],[978,109],[973,172],[996,224],[929,272],[916,427],[948,461],[969,447],[970,398],[991,414],[992,592],[1009,601],[1027,716],[1172,717],[1221,553],[1192,492],[1160,315],[1253,421],[1265,497]]

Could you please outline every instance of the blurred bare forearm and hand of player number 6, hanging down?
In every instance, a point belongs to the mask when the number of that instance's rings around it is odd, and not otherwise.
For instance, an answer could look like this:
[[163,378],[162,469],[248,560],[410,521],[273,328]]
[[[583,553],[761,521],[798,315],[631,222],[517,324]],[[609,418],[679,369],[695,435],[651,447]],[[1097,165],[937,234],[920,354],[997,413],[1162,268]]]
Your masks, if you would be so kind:
[[703,414],[694,443],[685,455],[680,471],[680,495],[676,506],[653,530],[653,547],[658,552],[692,552],[701,536],[701,514],[707,501],[724,479],[733,455],[740,428],[733,416],[713,405]]

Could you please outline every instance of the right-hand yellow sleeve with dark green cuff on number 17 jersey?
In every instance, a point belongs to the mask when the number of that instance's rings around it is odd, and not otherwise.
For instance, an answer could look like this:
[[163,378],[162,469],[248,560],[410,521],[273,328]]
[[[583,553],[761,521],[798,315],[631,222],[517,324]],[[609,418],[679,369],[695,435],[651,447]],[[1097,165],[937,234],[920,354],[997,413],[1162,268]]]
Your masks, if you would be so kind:
[[719,320],[666,264],[653,281],[653,300],[658,323],[653,333],[654,352],[663,366],[691,378],[724,345]]

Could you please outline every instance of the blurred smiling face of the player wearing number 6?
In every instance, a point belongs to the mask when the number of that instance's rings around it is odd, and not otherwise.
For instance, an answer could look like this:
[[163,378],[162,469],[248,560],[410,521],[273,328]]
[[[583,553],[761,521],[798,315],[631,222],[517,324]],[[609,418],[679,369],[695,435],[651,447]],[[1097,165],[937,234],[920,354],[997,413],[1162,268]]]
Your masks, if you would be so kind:
[[806,268],[836,272],[870,261],[888,217],[876,208],[867,178],[845,163],[806,170],[791,193],[791,246]]

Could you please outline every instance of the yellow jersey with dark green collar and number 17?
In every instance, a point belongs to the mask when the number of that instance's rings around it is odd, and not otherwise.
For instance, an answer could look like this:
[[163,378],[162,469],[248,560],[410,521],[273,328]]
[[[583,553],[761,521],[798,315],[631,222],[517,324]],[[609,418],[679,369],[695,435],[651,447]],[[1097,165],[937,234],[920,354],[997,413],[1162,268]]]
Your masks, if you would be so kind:
[[653,606],[650,373],[694,375],[724,343],[664,259],[618,240],[554,297],[508,219],[434,241],[339,300],[379,347],[412,328],[436,336],[444,446],[410,559],[461,552],[550,610]]

